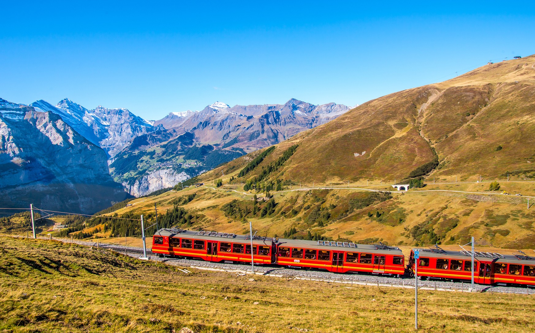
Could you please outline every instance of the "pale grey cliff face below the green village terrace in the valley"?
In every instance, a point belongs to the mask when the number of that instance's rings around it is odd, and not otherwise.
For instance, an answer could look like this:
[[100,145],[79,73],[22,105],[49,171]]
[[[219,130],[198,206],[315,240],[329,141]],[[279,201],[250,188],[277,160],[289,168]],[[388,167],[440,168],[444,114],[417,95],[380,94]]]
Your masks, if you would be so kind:
[[133,185],[124,183],[123,187],[131,195],[140,197],[157,190],[173,187],[191,177],[192,176],[185,172],[178,173],[173,169],[160,169],[143,175],[140,179],[136,180]]

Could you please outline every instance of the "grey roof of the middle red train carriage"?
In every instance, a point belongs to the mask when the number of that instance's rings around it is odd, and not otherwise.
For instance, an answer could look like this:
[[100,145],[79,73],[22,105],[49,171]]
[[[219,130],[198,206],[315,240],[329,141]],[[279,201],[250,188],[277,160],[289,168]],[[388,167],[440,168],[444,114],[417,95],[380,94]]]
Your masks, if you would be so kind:
[[286,239],[279,238],[278,246],[288,247],[305,247],[307,249],[332,250],[332,251],[353,251],[379,254],[397,254],[403,255],[399,247],[387,246],[384,244],[368,245],[355,244],[349,242],[330,242],[330,241],[305,241],[304,239]]

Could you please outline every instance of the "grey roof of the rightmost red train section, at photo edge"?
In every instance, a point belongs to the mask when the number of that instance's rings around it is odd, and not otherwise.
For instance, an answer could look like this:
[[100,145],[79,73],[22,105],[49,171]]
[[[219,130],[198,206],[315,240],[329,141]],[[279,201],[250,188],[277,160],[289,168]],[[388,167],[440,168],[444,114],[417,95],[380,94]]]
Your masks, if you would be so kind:
[[[449,258],[457,260],[467,260],[471,258],[471,251],[452,251],[452,250],[443,250],[438,246],[433,246],[429,249],[414,248],[415,250],[420,251],[420,256],[429,257],[429,258]],[[496,252],[483,252],[483,251],[474,251],[474,258],[478,261],[495,261],[502,262],[503,264],[518,264],[518,265],[535,265],[535,257],[517,251],[513,254],[501,254]]]

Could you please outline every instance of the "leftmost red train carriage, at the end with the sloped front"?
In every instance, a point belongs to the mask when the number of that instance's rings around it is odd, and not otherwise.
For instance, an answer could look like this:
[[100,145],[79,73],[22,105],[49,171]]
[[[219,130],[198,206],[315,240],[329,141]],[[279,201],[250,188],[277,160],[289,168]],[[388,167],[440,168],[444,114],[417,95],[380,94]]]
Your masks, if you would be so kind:
[[[216,231],[160,229],[152,237],[152,252],[171,257],[191,257],[206,261],[251,262],[249,236]],[[271,264],[275,261],[275,245],[272,238],[253,238],[255,264]]]

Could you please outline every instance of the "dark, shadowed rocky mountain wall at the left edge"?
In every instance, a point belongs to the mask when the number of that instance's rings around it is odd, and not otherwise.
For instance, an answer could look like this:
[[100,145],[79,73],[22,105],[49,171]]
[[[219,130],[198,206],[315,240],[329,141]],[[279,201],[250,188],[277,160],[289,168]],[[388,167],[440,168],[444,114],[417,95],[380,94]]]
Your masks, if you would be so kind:
[[59,115],[0,99],[0,205],[94,213],[124,200],[105,152]]

